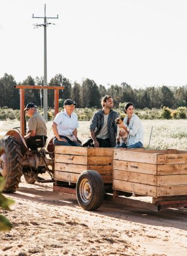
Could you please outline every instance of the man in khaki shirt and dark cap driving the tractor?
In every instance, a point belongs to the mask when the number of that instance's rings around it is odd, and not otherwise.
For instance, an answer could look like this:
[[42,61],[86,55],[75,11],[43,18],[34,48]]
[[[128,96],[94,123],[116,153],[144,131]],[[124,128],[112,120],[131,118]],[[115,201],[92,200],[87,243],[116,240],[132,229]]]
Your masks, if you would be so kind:
[[47,136],[46,121],[43,116],[37,112],[37,106],[30,102],[24,110],[27,116],[30,117],[28,121],[28,132],[24,138],[27,139],[28,137],[34,137],[37,135]]

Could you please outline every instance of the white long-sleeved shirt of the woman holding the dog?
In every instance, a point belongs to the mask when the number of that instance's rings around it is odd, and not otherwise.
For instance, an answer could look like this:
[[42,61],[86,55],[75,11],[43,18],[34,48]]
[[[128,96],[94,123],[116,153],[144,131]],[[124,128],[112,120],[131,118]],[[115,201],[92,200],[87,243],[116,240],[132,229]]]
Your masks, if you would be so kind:
[[127,130],[129,130],[129,137],[127,139],[127,146],[133,145],[137,142],[141,142],[143,144],[143,127],[140,121],[140,118],[133,114],[129,126],[127,124],[128,116],[126,116],[123,120],[124,124],[127,126]]

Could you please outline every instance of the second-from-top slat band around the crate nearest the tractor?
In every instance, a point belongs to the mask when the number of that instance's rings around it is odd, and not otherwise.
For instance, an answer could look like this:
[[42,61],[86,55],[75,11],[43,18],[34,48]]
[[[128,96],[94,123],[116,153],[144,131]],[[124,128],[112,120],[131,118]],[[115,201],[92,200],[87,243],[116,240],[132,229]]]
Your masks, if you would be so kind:
[[112,156],[72,156],[68,154],[56,154],[55,160],[58,163],[70,163],[70,164],[112,164]]

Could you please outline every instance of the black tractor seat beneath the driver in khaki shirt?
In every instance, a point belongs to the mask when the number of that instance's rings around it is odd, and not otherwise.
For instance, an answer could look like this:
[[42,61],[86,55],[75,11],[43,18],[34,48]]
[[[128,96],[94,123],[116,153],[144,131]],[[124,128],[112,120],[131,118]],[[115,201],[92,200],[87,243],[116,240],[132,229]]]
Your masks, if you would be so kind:
[[44,147],[46,145],[47,136],[36,135],[33,137],[28,137],[25,139],[27,147],[31,150],[37,150],[39,147]]

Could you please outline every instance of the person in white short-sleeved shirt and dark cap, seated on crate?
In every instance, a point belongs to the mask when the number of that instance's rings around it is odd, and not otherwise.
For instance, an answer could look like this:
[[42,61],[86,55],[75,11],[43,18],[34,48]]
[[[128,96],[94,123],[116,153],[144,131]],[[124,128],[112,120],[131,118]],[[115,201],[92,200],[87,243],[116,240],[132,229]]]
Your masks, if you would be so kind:
[[75,105],[73,100],[65,100],[64,111],[58,113],[53,121],[53,143],[56,146],[79,146],[77,143],[78,117],[74,113]]

